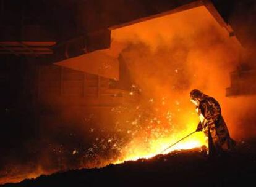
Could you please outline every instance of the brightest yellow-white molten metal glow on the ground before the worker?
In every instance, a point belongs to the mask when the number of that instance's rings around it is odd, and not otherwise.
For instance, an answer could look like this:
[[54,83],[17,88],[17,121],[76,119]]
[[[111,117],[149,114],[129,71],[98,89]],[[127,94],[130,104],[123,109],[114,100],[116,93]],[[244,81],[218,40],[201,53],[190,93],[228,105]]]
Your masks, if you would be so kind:
[[[186,113],[185,113],[186,115]],[[189,114],[187,114],[189,116]],[[162,119],[163,120],[163,119]],[[123,155],[121,159],[116,161],[116,163],[121,163],[124,161],[129,160],[137,160],[140,158],[150,158],[153,156],[156,156],[157,154],[160,154],[161,151],[168,148],[173,143],[176,143],[176,141],[180,140],[181,138],[185,137],[191,132],[195,131],[195,128],[197,127],[198,117],[195,115],[190,114],[189,117],[185,117],[182,120],[182,129],[176,130],[174,133],[170,133],[169,135],[162,136],[161,132],[159,137],[151,137],[148,138],[147,143],[145,144],[145,137],[148,135],[145,134],[145,131],[142,131],[138,133],[137,136],[135,136],[132,141],[130,141],[126,148],[123,149]],[[158,127],[155,127],[156,131],[158,130]],[[152,128],[152,127],[151,127]],[[168,129],[168,127],[165,127]],[[171,125],[169,128],[172,128]],[[154,128],[151,129],[151,132],[154,130]],[[147,145],[147,146],[145,146]],[[205,145],[205,137],[203,133],[194,133],[190,137],[187,137],[186,139],[180,141],[173,147],[169,148],[168,150],[164,151],[163,154],[167,154],[174,150],[181,150],[181,149],[192,149],[192,148],[200,148]]]

